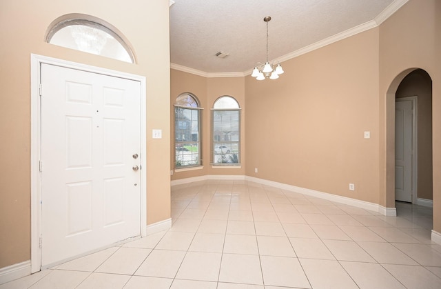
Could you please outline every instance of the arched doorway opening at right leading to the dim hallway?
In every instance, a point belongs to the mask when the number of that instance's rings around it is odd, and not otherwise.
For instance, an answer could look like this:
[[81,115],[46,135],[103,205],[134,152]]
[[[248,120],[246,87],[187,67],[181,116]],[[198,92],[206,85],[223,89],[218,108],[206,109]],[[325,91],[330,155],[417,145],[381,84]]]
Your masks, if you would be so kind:
[[[403,104],[405,110],[403,110]],[[406,210],[421,208],[416,206],[433,206],[433,165],[432,165],[432,80],[422,69],[409,69],[398,74],[387,93],[387,200],[393,205],[397,203],[398,215]],[[395,111],[395,113],[393,113]],[[408,121],[403,115],[410,114]],[[392,115],[395,115],[393,117]],[[409,127],[411,126],[411,127]],[[405,149],[403,139],[410,135],[411,144]],[[409,142],[409,137],[407,137]],[[405,142],[405,141],[404,141]],[[407,152],[404,152],[407,150]],[[404,173],[402,159],[406,158],[411,166]],[[409,179],[410,178],[410,179]],[[404,187],[407,192],[402,195]],[[410,195],[406,195],[410,194]],[[424,207],[423,207],[424,208]],[[432,215],[425,214],[430,218]]]

